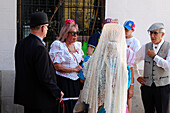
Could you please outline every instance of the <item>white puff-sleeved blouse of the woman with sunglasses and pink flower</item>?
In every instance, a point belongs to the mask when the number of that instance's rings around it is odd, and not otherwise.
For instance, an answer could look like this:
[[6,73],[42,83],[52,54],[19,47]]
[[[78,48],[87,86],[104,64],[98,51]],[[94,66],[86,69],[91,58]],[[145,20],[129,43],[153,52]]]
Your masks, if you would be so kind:
[[[76,52],[71,53],[65,42],[60,42],[59,40],[54,41],[51,44],[49,55],[51,57],[51,60],[53,63],[61,63],[65,67],[75,68],[79,65],[79,63],[82,60],[82,56],[84,55],[81,47],[81,42],[75,42],[74,47]],[[75,57],[76,58],[75,58]],[[78,63],[77,63],[77,61]],[[60,73],[59,71],[56,71],[56,74],[66,77],[72,80],[77,80],[79,77],[77,76],[78,73],[72,72],[72,73]]]

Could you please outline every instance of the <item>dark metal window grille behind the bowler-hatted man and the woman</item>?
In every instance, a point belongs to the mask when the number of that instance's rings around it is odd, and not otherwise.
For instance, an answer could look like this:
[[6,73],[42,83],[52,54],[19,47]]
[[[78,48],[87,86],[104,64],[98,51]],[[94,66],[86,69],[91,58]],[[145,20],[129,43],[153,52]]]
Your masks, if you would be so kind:
[[105,16],[105,0],[18,0],[18,41],[30,33],[30,14],[46,12],[51,21],[45,42],[47,47],[59,36],[65,19],[71,18],[79,25],[78,40],[88,40],[92,33],[101,30]]

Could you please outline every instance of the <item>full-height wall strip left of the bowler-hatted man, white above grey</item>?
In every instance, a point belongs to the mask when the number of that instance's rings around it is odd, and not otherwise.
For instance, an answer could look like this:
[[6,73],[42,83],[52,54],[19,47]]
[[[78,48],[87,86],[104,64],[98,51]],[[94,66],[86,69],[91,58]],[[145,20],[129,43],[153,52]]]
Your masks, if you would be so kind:
[[17,40],[17,0],[0,3],[0,113],[22,113],[13,104],[14,49]]

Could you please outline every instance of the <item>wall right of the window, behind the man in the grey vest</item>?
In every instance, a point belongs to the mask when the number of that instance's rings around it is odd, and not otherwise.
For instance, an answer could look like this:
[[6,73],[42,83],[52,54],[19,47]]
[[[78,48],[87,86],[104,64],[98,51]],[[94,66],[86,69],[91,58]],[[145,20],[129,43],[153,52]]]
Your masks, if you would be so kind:
[[[150,42],[147,29],[155,22],[162,22],[166,30],[164,39],[170,42],[170,0],[106,0],[105,18],[117,18],[122,25],[133,20],[136,25],[133,35],[141,45]],[[143,70],[142,63],[138,66]],[[137,81],[134,89],[132,113],[144,113]]]

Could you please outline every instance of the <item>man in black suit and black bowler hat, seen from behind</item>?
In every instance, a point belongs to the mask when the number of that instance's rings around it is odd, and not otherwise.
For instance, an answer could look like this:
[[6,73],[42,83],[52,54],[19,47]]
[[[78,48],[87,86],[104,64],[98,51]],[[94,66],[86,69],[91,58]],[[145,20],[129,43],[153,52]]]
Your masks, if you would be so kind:
[[24,106],[24,113],[57,113],[56,100],[63,93],[56,84],[55,68],[44,46],[48,31],[46,13],[30,18],[31,33],[15,48],[14,103]]

